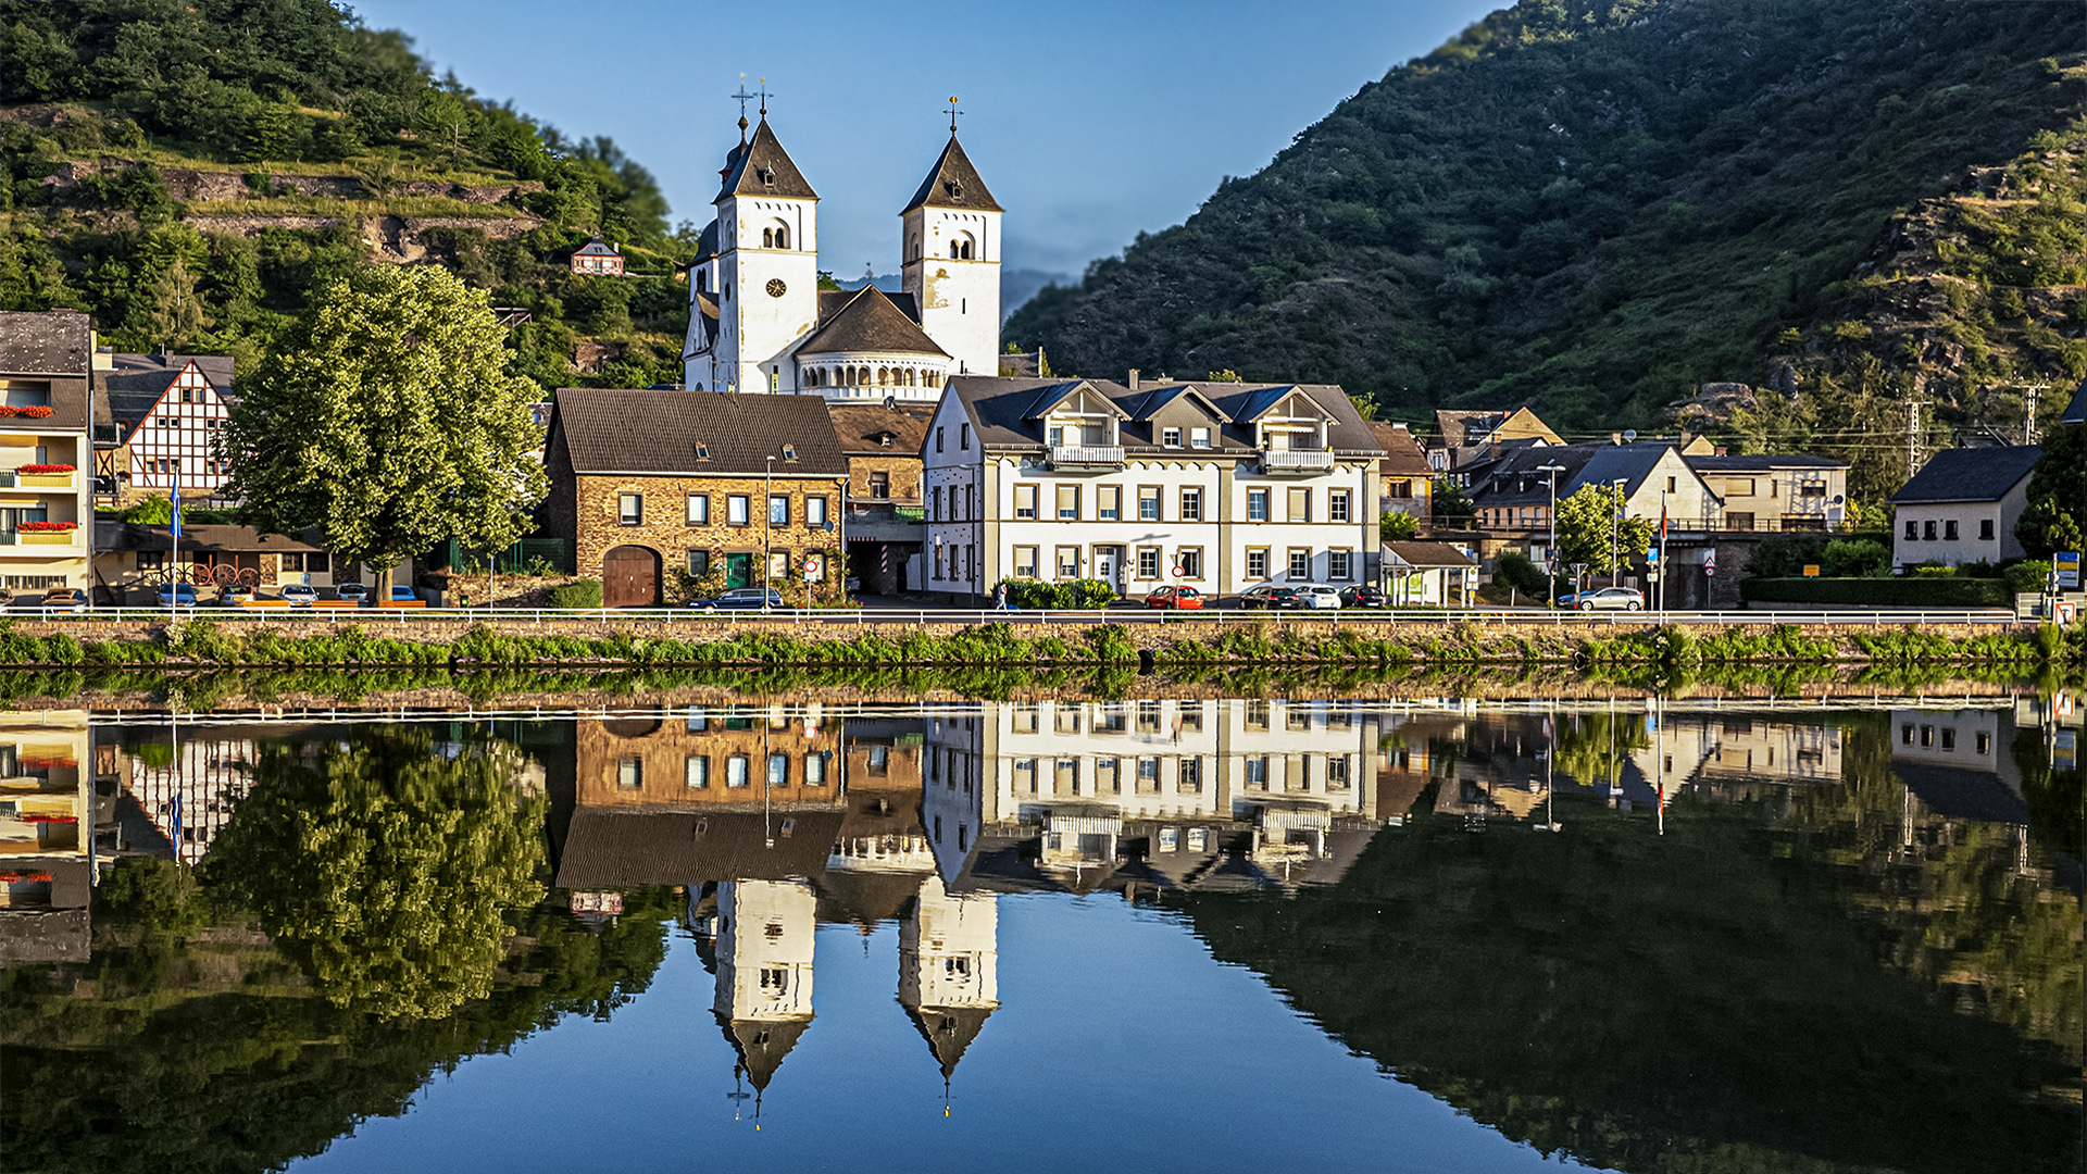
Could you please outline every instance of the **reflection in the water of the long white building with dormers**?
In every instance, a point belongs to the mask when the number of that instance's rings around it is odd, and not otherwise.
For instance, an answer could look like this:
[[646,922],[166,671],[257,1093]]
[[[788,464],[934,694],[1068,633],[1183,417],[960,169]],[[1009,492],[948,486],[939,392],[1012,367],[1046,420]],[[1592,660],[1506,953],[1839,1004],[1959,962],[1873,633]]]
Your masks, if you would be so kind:
[[929,719],[920,811],[954,890],[1284,886],[1367,842],[1380,767],[1344,702],[1016,702]]

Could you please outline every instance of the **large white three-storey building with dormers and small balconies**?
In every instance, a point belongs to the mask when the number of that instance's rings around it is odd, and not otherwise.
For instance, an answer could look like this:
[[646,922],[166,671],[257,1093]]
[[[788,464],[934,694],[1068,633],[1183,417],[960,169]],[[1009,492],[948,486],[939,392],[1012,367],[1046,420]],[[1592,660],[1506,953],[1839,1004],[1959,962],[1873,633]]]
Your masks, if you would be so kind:
[[922,585],[1373,583],[1382,455],[1327,384],[956,376],[920,453]]

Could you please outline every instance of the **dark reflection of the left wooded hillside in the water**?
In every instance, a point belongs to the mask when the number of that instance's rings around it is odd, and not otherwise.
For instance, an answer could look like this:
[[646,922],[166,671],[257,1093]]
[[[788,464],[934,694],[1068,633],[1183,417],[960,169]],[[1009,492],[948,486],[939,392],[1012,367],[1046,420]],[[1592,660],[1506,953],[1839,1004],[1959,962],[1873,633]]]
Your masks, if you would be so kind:
[[[589,932],[511,911],[515,953],[445,1019],[380,1019],[321,999],[244,913],[213,909],[171,861],[121,861],[94,892],[94,959],[0,973],[6,1170],[259,1172],[405,1111],[428,1076],[561,1015],[607,1015],[666,957],[668,890],[624,896]],[[83,982],[75,982],[83,980]]]

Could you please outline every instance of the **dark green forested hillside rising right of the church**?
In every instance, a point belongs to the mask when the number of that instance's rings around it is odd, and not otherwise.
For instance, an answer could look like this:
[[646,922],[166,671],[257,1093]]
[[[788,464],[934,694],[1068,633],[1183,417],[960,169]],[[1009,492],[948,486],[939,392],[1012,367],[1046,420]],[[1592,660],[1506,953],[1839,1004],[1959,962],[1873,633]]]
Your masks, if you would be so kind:
[[[1887,428],[1914,393],[2006,422],[1989,384],[2087,374],[2083,44],[2060,2],[1524,0],[1008,336],[1073,372],[1340,380],[1394,416],[1534,401],[1607,432],[1736,380],[1780,384],[1764,435],[1828,380]],[[1922,242],[1947,280],[1916,295]],[[1908,297],[1914,347],[1872,322]]]

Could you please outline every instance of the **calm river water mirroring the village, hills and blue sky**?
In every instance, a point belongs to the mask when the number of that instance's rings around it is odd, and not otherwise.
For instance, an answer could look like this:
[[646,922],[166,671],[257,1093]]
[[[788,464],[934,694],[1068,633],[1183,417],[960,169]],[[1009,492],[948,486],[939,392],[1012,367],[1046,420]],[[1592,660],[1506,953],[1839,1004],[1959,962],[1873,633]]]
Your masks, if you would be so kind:
[[2079,1170],[2077,721],[0,714],[0,1170]]

